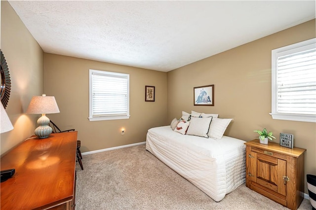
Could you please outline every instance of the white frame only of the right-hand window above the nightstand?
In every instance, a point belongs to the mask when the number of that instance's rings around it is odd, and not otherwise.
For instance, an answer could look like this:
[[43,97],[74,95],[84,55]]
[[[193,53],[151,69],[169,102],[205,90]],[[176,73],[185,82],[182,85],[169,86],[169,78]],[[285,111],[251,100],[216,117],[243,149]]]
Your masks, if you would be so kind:
[[277,111],[277,59],[278,54],[292,54],[294,52],[299,52],[303,50],[298,50],[297,48],[308,48],[309,46],[316,46],[316,38],[301,41],[288,46],[280,47],[272,50],[272,112],[270,115],[273,119],[278,120],[292,120],[292,121],[302,121],[302,122],[316,122],[316,114],[297,114],[297,113],[279,113]]

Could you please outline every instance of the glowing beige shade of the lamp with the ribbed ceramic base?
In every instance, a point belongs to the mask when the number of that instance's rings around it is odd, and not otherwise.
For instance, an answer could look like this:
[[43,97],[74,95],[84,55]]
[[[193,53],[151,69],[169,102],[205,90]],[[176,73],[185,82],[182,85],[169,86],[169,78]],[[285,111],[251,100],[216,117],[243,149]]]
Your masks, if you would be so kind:
[[33,96],[26,113],[28,114],[52,114],[59,113],[59,108],[56,103],[55,97],[46,96]]

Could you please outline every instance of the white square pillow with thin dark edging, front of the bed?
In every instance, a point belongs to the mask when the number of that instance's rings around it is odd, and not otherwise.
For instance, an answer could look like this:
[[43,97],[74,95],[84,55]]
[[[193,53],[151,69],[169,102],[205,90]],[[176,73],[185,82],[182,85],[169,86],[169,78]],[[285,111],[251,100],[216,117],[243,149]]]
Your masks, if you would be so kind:
[[208,138],[207,132],[211,124],[212,117],[191,117],[187,135]]

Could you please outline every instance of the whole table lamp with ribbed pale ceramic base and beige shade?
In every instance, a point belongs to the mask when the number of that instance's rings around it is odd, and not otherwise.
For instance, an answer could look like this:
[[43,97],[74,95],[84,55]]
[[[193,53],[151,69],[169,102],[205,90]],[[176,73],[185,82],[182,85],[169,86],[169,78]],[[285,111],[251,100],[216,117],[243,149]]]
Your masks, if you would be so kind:
[[53,129],[48,125],[49,119],[46,114],[59,113],[59,108],[56,103],[55,97],[46,96],[33,96],[26,113],[29,114],[41,114],[38,119],[38,124],[40,125],[34,131],[35,135],[40,139],[47,138],[53,131]]

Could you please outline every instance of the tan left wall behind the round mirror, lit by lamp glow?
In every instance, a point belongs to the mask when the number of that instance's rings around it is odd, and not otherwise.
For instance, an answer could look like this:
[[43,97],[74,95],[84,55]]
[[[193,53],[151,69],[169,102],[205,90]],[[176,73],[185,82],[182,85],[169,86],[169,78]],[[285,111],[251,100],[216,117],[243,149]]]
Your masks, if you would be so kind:
[[43,92],[43,51],[7,1],[1,0],[1,51],[11,76],[6,112],[14,129],[1,134],[1,154],[34,134],[36,115],[26,115],[33,95]]

